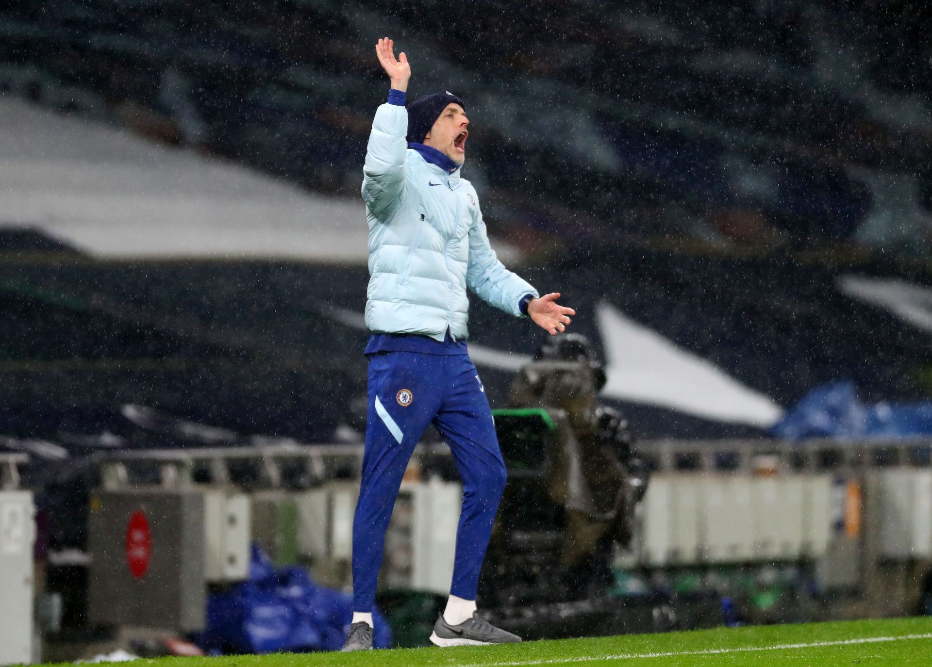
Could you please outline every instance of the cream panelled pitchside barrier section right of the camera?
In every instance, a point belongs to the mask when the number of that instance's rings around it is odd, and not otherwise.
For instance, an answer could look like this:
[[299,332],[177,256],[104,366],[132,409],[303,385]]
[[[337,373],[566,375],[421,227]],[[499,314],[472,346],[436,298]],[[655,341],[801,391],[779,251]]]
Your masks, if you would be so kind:
[[932,589],[928,439],[654,441],[639,451],[656,470],[637,542],[646,565],[802,559],[829,618],[911,614]]

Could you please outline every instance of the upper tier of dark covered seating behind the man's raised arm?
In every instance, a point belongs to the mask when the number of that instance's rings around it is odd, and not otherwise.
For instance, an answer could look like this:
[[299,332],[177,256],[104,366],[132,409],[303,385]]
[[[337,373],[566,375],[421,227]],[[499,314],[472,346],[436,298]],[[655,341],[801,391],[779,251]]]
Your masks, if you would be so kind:
[[910,7],[26,0],[0,9],[0,88],[354,195],[389,31],[413,92],[474,109],[468,175],[502,233],[808,248],[855,235],[855,166],[929,181],[922,31],[888,38]]

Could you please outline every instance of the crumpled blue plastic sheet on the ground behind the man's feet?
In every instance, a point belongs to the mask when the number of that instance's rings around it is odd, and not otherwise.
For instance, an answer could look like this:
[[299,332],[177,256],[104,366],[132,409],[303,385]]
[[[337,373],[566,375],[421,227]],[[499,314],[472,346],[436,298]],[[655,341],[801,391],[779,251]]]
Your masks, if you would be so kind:
[[[300,567],[275,567],[254,545],[249,579],[209,597],[199,644],[213,653],[336,650],[351,619],[351,595],[318,586]],[[390,647],[388,622],[377,610],[373,619],[373,644]]]

